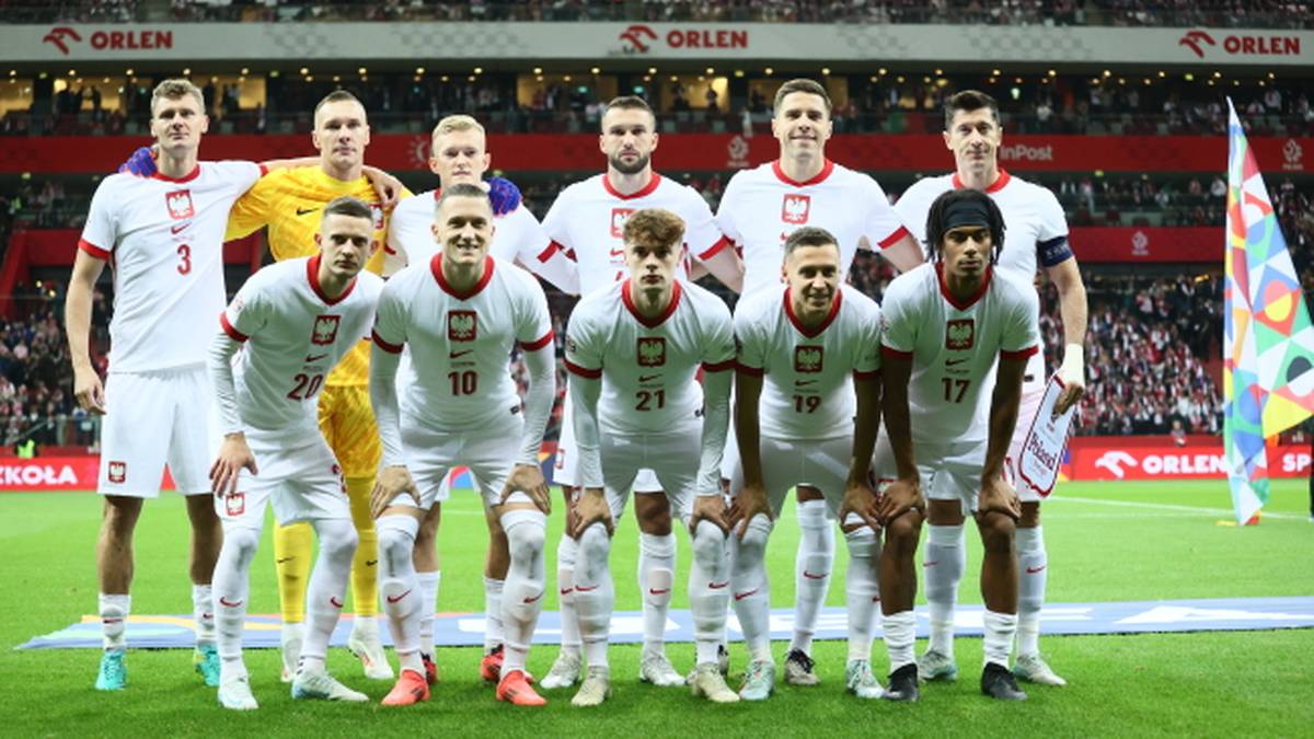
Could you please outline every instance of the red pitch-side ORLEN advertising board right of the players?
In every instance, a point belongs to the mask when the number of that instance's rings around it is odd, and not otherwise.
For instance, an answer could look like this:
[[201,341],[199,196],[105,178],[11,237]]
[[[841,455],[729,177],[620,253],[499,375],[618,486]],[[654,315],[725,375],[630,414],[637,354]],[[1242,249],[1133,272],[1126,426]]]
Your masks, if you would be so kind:
[[[1084,438],[1070,450],[1071,480],[1214,480],[1227,476],[1223,446],[1133,446],[1117,438]],[[1310,447],[1268,448],[1271,477],[1306,477]]]

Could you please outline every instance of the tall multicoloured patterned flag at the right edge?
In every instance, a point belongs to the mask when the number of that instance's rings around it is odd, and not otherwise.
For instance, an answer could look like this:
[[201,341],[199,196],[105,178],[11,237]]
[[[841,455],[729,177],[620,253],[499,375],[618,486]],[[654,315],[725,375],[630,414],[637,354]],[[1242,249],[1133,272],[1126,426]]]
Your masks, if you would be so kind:
[[1223,444],[1244,523],[1268,501],[1264,439],[1314,414],[1314,327],[1231,100],[1227,139]]

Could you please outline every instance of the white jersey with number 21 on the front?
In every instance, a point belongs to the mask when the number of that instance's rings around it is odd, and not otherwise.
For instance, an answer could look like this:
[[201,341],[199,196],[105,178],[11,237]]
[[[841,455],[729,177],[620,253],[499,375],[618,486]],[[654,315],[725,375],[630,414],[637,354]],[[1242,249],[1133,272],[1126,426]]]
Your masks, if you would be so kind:
[[673,431],[703,408],[699,368],[725,371],[735,362],[735,331],[725,302],[675,283],[670,306],[656,320],[640,316],[629,280],[585,296],[566,329],[566,370],[602,379],[602,434]]

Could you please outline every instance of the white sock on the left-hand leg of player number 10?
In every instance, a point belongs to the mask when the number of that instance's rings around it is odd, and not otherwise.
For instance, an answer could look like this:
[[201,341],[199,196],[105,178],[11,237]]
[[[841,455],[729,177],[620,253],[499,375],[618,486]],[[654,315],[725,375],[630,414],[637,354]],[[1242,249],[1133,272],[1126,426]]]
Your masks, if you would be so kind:
[[411,560],[419,521],[411,515],[385,515],[374,522],[374,530],[378,533],[378,594],[384,597],[384,613],[388,614],[388,625],[393,631],[397,657],[403,669],[413,661],[423,669],[419,659],[419,615],[424,604],[420,602],[415,564]]

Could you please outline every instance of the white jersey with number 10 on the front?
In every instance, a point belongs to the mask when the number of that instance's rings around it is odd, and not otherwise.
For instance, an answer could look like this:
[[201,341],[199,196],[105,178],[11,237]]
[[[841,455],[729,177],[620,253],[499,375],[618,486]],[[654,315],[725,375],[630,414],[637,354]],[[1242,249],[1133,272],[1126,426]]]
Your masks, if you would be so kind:
[[519,413],[511,350],[516,342],[528,351],[548,346],[552,317],[543,287],[524,270],[487,256],[480,283],[459,293],[443,277],[442,259],[413,263],[388,280],[373,339],[394,354],[409,348],[422,370],[398,384],[403,425],[457,434]]

